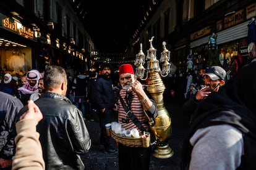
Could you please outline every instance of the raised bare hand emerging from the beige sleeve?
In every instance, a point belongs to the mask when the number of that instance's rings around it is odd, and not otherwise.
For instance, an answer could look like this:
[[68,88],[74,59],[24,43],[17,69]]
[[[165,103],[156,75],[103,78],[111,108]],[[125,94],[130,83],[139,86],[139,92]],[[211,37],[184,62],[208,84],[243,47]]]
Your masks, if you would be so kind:
[[20,116],[20,119],[35,119],[37,122],[39,122],[41,119],[43,119],[43,115],[33,100],[29,100],[28,111]]

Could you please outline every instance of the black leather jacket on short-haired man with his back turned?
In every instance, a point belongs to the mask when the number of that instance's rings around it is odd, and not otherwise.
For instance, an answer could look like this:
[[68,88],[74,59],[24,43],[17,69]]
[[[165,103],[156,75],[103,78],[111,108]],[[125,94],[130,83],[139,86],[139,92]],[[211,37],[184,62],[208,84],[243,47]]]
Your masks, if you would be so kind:
[[[45,92],[35,103],[43,113],[37,131],[46,169],[84,169],[80,155],[88,152],[91,140],[81,111],[53,92]],[[19,116],[26,110],[27,105]]]

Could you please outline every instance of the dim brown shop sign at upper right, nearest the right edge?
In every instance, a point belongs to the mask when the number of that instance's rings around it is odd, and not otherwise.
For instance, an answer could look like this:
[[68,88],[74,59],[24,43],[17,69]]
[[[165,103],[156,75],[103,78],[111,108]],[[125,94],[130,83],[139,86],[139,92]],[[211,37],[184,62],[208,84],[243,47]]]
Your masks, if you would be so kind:
[[233,25],[237,25],[238,23],[241,23],[244,21],[244,9],[241,9],[234,14],[230,14],[226,17],[224,17],[224,28],[229,28]]

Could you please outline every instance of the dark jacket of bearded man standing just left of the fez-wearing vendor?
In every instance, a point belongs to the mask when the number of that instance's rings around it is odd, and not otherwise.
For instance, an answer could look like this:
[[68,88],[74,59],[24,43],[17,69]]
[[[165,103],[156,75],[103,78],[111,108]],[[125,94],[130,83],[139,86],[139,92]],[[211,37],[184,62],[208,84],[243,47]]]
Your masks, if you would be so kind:
[[97,106],[99,109],[103,108],[114,108],[114,91],[113,91],[113,81],[111,78],[106,78],[106,76],[101,76],[96,81],[96,97]]

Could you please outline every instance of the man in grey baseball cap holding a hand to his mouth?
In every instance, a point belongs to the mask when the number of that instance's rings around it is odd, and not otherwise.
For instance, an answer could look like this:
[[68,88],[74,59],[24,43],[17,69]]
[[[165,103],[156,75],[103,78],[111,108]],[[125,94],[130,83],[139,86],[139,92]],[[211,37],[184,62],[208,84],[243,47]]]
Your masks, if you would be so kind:
[[184,113],[190,115],[190,121],[192,119],[192,115],[197,107],[197,104],[208,97],[211,92],[218,92],[220,87],[225,84],[226,71],[220,66],[212,66],[209,67],[205,74],[203,74],[203,81],[205,82],[205,86],[202,89],[197,91],[190,100],[188,100],[183,105]]

